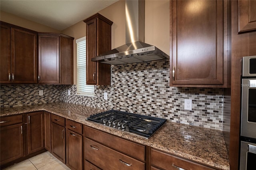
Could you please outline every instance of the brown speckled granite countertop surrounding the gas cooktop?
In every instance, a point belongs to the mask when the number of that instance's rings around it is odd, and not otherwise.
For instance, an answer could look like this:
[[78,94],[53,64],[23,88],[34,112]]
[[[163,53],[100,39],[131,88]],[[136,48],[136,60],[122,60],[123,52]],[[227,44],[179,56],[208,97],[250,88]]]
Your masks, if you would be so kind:
[[167,122],[149,139],[109,128],[97,123],[87,121],[92,114],[106,111],[84,105],[56,102],[40,105],[28,105],[12,108],[1,108],[0,117],[21,113],[47,111],[96,128],[116,136],[151,146],[158,150],[176,155],[180,158],[193,160],[218,169],[230,170],[228,152],[221,130],[204,127],[191,127],[190,125]]

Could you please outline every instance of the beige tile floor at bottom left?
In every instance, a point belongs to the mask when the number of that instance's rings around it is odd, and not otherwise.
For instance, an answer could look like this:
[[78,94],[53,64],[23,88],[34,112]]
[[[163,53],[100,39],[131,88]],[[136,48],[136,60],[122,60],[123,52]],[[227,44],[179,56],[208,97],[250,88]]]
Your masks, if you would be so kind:
[[44,152],[4,170],[70,170],[65,164],[55,158],[50,152]]

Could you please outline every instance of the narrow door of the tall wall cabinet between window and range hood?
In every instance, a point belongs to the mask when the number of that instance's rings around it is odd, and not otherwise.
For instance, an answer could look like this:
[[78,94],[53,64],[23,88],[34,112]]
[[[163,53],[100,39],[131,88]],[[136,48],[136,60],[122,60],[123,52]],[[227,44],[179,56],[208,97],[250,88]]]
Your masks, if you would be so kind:
[[96,57],[96,29],[97,19],[93,19],[86,23],[86,84],[97,84],[96,62],[91,61]]

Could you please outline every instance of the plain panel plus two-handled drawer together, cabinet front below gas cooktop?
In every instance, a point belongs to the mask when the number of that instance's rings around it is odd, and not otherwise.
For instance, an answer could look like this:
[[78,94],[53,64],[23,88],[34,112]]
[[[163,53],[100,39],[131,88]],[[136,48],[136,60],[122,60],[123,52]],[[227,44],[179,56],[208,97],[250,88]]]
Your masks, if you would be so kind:
[[146,168],[145,146],[86,126],[84,126],[84,159],[104,170]]

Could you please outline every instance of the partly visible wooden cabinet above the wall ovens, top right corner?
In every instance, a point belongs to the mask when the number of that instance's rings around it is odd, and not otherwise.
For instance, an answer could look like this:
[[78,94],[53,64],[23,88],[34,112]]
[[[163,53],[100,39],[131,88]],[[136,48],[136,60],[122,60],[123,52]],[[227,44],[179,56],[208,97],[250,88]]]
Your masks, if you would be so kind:
[[238,32],[256,30],[256,1],[238,0]]

